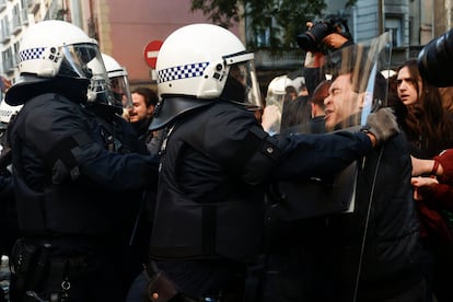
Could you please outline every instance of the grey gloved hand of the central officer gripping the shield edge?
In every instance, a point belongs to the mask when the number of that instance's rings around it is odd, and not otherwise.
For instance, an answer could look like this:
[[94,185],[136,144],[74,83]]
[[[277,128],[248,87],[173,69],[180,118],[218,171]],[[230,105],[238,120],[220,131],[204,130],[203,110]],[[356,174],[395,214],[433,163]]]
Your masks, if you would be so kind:
[[383,143],[388,138],[399,132],[396,116],[393,109],[384,107],[375,113],[368,115],[364,130],[368,130],[378,140],[378,144]]

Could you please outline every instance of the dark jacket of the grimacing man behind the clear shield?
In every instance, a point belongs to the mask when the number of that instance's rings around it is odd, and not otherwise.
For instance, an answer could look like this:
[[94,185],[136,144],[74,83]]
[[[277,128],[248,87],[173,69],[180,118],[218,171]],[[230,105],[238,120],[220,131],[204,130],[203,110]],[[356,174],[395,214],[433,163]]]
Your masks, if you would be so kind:
[[357,301],[383,301],[422,279],[408,141],[399,133],[382,148],[359,162],[355,211],[327,218],[303,240],[306,260],[323,276],[306,272],[324,286],[326,299],[316,301],[352,301],[356,282]]

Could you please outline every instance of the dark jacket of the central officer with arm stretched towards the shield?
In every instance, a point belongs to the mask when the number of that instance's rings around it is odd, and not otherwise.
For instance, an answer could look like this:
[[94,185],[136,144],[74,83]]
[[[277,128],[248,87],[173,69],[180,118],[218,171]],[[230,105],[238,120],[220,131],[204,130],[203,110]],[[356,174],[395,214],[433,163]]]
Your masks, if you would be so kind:
[[160,259],[256,256],[269,182],[332,175],[371,150],[362,132],[269,137],[253,113],[221,101],[167,133],[150,248]]

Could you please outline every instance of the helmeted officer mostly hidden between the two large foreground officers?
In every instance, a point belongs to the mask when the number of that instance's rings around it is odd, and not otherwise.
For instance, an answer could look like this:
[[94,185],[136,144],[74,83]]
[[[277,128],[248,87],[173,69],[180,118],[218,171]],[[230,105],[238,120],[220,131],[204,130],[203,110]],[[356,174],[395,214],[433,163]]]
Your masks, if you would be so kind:
[[[133,107],[133,97],[129,88],[129,79],[126,67],[121,66],[115,58],[106,54],[101,54],[111,82],[114,102],[105,102],[105,97],[100,97],[97,102],[90,102],[88,108],[95,113],[98,124],[103,128],[106,140],[106,148],[119,153],[136,152],[149,154],[148,146],[141,138],[139,131],[130,120],[125,118]],[[100,95],[100,94],[97,94]],[[148,127],[147,127],[148,130]],[[143,270],[143,264],[148,260],[148,244],[150,237],[150,219],[154,204],[155,190],[138,190],[127,193],[127,196],[115,194],[118,200],[140,200],[131,205],[136,214],[133,220],[126,226],[118,230],[128,243],[125,251],[118,253],[125,259],[123,266],[123,277],[131,282],[138,274]]]

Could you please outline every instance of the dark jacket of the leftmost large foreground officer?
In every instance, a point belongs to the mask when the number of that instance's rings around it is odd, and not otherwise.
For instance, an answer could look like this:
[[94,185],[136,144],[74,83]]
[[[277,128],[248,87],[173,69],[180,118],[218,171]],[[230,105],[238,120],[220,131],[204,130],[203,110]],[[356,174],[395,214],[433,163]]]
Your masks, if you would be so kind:
[[155,161],[108,151],[105,143],[102,125],[81,105],[58,94],[25,103],[12,128],[14,189],[25,235],[107,234],[133,208],[118,196],[151,186]]

